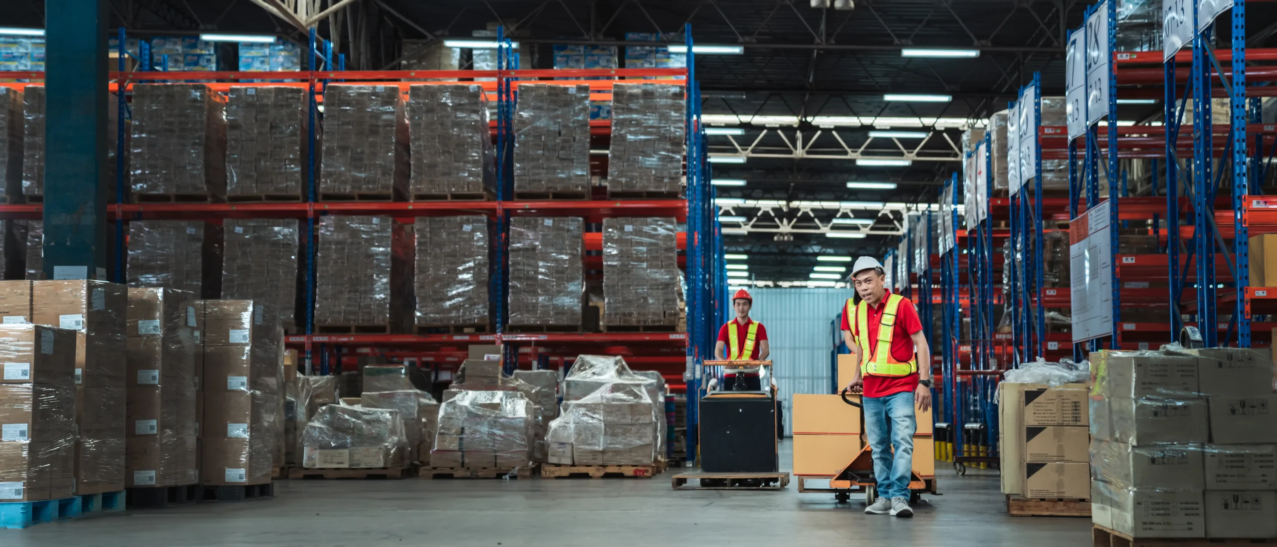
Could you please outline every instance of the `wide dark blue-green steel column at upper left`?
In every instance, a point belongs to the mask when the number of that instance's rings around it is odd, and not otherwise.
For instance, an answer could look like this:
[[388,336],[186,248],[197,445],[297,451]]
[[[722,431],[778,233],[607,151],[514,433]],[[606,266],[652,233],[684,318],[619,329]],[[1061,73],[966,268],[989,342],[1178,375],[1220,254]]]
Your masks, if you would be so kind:
[[49,0],[45,11],[45,277],[105,279],[106,1]]

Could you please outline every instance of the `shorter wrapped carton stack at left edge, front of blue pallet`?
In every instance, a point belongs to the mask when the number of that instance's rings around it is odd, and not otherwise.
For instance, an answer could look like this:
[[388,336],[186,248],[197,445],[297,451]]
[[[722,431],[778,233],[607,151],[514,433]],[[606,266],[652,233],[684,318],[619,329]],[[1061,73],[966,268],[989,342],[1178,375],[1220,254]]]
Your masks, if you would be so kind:
[[75,334],[0,325],[0,502],[82,493],[74,474]]

